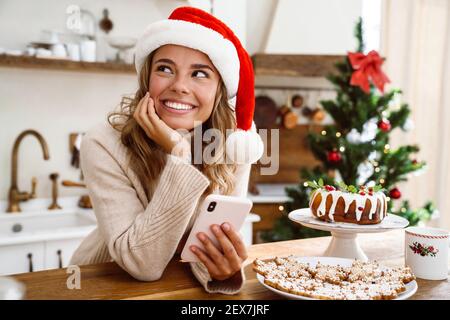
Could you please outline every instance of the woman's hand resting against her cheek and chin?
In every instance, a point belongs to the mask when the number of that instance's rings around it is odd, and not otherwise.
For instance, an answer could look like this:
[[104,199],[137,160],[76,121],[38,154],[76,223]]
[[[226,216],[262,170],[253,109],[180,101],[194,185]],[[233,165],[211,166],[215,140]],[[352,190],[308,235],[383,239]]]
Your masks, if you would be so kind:
[[166,153],[190,160],[190,142],[159,118],[155,111],[155,102],[148,92],[139,101],[133,117],[147,136],[161,146]]

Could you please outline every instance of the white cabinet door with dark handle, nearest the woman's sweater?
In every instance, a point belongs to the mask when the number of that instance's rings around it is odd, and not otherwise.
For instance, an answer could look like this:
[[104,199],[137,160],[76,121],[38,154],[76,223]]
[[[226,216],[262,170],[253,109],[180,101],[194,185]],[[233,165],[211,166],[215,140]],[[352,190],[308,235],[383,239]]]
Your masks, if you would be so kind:
[[80,245],[80,239],[64,239],[45,242],[45,269],[65,268]]

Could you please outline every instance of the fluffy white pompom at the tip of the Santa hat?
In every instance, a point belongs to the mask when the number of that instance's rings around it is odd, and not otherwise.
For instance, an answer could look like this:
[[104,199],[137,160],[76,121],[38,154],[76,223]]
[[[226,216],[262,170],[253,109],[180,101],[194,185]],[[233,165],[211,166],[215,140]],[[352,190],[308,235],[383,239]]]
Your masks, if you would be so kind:
[[251,164],[258,161],[264,152],[264,143],[255,131],[237,130],[226,142],[227,157],[237,164]]

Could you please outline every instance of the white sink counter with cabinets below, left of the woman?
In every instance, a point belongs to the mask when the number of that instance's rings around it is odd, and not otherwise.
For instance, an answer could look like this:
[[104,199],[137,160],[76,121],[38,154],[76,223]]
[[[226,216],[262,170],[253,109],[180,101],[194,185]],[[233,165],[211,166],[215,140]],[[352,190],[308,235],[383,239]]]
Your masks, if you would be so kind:
[[32,199],[15,213],[0,201],[0,276],[67,267],[97,226],[94,211],[79,208],[78,199],[59,198],[56,210],[47,209],[51,199]]

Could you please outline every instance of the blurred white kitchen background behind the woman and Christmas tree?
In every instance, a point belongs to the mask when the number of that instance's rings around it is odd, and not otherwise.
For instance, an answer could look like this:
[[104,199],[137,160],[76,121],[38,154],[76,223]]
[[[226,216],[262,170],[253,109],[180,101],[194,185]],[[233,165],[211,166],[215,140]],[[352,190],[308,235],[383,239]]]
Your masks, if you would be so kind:
[[[389,87],[402,89],[412,111],[391,145],[417,144],[427,163],[397,187],[411,208],[432,200],[436,210],[421,223],[450,228],[449,1],[0,0],[0,275],[66,266],[94,228],[79,168],[82,134],[135,92],[133,50],[144,28],[187,5],[235,31],[254,63],[255,122],[280,129],[278,173],[252,171],[247,244],[291,235],[279,222],[292,201],[285,188],[301,184],[301,168],[320,164],[306,136],[333,122],[319,103],[336,96],[325,77],[356,50],[359,17],[366,52],[386,58]],[[16,140],[26,130],[35,131]],[[15,180],[20,192],[34,186],[34,199],[12,205]],[[274,229],[278,238],[264,236]]]

